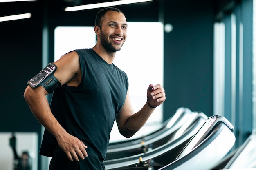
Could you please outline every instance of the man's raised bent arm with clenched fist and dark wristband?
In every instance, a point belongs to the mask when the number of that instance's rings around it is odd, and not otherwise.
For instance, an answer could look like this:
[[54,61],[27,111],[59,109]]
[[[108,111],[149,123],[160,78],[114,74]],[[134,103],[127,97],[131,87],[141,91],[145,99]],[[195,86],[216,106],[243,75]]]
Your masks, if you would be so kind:
[[150,115],[153,113],[155,108],[152,107],[157,107],[165,101],[164,88],[159,84],[156,86],[150,84],[147,91],[147,98],[150,106],[148,105],[148,102],[146,102],[141,110],[134,113],[128,90],[124,106],[116,118],[119,132],[124,137],[132,137],[132,135],[134,135],[146,123]]

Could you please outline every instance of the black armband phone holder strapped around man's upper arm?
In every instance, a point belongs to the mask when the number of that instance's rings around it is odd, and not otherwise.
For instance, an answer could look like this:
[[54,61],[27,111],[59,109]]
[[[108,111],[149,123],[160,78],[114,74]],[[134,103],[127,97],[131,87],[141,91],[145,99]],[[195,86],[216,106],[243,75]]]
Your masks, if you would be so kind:
[[57,87],[61,86],[61,83],[54,76],[57,66],[50,62],[42,71],[31,78],[27,84],[31,88],[37,88],[43,86],[48,93],[52,93]]

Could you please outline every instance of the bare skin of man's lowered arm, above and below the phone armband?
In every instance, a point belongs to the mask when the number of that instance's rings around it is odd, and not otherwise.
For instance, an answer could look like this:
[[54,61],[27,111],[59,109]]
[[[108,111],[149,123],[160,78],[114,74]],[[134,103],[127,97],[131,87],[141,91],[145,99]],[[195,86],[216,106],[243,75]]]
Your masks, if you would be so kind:
[[[67,83],[70,86],[78,86],[81,81],[81,70],[79,56],[76,52],[63,55],[60,60],[54,62],[57,70],[54,76],[61,82],[61,85]],[[85,144],[78,138],[68,134],[59,124],[51,112],[46,99],[47,91],[43,86],[31,88],[27,86],[24,92],[24,98],[34,114],[36,119],[56,137],[59,146],[67,154],[70,160],[78,161],[80,157],[87,157]]]

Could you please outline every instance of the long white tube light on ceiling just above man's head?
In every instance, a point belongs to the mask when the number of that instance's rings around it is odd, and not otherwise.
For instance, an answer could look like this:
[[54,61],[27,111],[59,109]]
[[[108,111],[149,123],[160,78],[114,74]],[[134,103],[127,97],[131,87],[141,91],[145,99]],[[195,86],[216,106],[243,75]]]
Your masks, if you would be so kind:
[[87,4],[87,5],[79,5],[74,7],[66,7],[65,11],[80,11],[85,9],[94,9],[94,8],[101,8],[101,7],[111,7],[111,6],[117,6],[117,5],[124,5],[124,4],[134,4],[139,2],[148,2],[153,0],[118,0],[113,2],[102,2],[97,4]]

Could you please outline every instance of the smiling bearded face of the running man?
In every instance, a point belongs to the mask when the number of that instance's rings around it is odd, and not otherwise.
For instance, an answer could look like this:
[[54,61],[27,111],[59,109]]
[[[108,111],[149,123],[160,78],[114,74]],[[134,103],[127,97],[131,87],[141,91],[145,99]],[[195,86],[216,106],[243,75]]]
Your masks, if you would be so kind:
[[124,14],[116,11],[106,12],[101,26],[102,46],[110,52],[121,50],[127,35],[127,22]]

